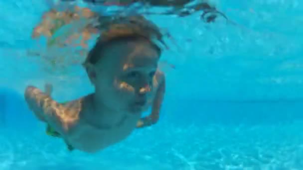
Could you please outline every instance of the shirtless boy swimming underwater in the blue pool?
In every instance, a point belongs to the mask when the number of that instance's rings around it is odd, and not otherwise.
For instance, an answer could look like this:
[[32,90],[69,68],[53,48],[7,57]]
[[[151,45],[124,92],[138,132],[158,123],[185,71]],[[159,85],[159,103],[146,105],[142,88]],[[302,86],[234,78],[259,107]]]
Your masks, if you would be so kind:
[[[48,132],[61,137],[69,150],[94,153],[156,123],[163,100],[158,27],[142,16],[100,25],[104,31],[83,64],[95,92],[64,104],[51,98],[49,85],[46,92],[28,86],[24,94],[36,117],[49,125]],[[152,114],[141,118],[149,106]]]

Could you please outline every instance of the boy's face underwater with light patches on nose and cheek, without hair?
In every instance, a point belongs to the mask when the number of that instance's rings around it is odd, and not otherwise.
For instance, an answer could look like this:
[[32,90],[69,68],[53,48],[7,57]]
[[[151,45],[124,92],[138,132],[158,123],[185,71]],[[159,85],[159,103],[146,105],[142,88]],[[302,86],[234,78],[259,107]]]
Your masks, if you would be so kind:
[[95,65],[96,95],[116,111],[141,113],[152,104],[159,54],[147,40],[114,42]]

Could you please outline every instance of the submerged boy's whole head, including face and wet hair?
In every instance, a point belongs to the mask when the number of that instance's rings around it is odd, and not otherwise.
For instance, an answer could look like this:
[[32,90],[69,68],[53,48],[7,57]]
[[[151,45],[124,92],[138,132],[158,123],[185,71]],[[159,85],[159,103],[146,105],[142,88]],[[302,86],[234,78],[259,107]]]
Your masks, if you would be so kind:
[[106,107],[141,113],[153,99],[153,79],[161,55],[153,36],[161,34],[154,25],[145,27],[151,22],[141,16],[123,19],[109,22],[84,66],[96,97]]

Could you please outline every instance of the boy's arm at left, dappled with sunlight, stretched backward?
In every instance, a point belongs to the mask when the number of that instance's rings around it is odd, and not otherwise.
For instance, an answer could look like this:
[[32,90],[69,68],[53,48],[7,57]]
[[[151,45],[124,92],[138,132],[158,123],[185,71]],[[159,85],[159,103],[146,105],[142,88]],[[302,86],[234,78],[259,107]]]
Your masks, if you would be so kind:
[[66,134],[66,121],[63,119],[66,109],[61,104],[34,86],[26,87],[24,97],[39,120],[47,122],[58,133]]

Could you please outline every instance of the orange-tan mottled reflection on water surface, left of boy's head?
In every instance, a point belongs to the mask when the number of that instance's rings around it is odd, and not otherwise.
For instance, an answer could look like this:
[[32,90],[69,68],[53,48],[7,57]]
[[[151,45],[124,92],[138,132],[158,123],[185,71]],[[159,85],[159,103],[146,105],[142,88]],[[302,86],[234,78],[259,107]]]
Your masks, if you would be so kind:
[[[92,24],[83,24],[83,28],[75,28],[69,32],[64,31],[61,33],[65,35],[58,33],[62,27],[71,24],[72,22],[77,22],[81,18],[88,20],[97,18],[97,15],[89,8],[81,8],[78,6],[75,6],[73,11],[57,11],[51,9],[43,14],[40,23],[33,29],[31,37],[37,38],[41,35],[45,36],[47,38],[48,46],[58,45],[63,47],[65,45],[74,45],[87,48],[87,41],[91,39],[91,34],[99,32]],[[73,41],[79,39],[80,36],[80,43],[73,44]]]

